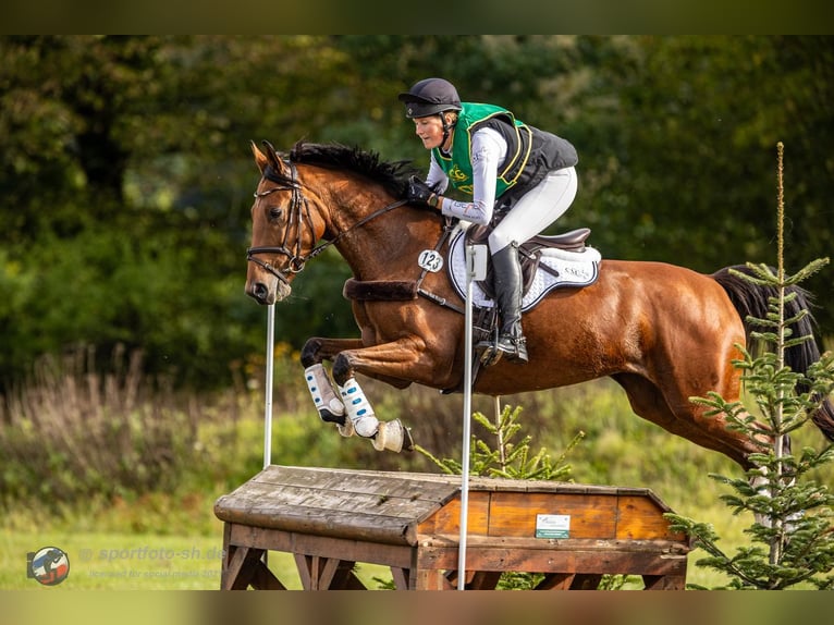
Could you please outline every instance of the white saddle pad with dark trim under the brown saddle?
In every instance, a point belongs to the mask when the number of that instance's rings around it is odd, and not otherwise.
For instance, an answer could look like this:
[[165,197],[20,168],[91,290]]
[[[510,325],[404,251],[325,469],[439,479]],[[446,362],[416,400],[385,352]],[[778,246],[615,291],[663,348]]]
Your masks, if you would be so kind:
[[[466,297],[465,234],[465,230],[453,234],[446,261],[449,277],[461,297]],[[530,289],[522,299],[522,310],[528,310],[536,306],[553,289],[561,286],[588,286],[593,284],[599,277],[599,266],[602,256],[593,247],[586,246],[584,252],[547,248],[542,249],[540,254],[539,265],[547,265],[554,269],[559,275],[553,275],[550,271],[539,267],[536,270]],[[487,297],[478,281],[473,284],[473,305],[480,308],[491,308],[494,306],[493,301]]]

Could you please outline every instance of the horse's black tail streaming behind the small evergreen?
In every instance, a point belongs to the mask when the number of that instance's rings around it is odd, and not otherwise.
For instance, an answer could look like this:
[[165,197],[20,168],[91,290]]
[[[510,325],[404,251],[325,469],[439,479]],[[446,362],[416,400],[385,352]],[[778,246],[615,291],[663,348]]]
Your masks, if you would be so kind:
[[[752,326],[748,322],[748,317],[757,319],[766,319],[769,312],[769,301],[771,297],[778,296],[777,290],[772,286],[762,286],[748,282],[738,275],[731,273],[731,269],[735,269],[741,273],[748,275],[751,271],[744,265],[737,265],[735,267],[725,267],[712,274],[712,278],[721,284],[729,296],[729,301],[733,306],[736,307],[738,315],[745,324],[745,333],[747,334],[747,343],[751,344],[750,332]],[[787,293],[796,293],[796,297],[785,304],[785,318],[792,318],[798,315],[801,310],[808,310],[808,315],[804,316],[797,321],[793,330],[794,336],[811,336],[807,341],[802,341],[798,345],[788,347],[785,351],[785,364],[790,367],[793,371],[805,373],[808,371],[808,367],[820,359],[820,348],[817,345],[817,341],[813,339],[813,330],[817,326],[813,316],[811,315],[811,304],[813,296],[799,286],[789,286]],[[807,391],[807,385],[800,385],[799,391]],[[834,405],[830,397],[821,404],[820,408],[811,416],[811,420],[820,428],[823,436],[830,441],[834,441]]]

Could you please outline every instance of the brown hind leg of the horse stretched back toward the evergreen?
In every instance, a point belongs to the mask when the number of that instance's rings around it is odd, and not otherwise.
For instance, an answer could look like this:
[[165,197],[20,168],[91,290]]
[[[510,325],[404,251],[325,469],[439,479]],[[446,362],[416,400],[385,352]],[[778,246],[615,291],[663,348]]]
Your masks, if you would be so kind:
[[680,397],[673,409],[660,389],[641,376],[617,373],[612,378],[623,387],[631,408],[642,418],[697,445],[720,452],[743,468],[753,466],[748,456],[760,448],[744,433],[727,429],[721,416],[704,416],[703,406],[689,402],[688,397]]

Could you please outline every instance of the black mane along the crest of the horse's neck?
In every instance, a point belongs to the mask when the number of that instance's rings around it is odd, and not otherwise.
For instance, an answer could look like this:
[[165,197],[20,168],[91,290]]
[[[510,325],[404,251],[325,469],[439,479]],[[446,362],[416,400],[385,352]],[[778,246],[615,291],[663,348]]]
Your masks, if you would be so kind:
[[308,163],[330,169],[347,169],[381,184],[394,197],[403,197],[408,176],[416,173],[410,161],[387,162],[375,151],[342,144],[308,144],[298,142],[287,155],[291,162]]

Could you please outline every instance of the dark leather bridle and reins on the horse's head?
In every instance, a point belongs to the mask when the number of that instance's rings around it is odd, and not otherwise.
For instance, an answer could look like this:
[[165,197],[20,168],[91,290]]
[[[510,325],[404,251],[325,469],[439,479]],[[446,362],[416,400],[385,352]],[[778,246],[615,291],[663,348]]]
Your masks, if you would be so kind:
[[[254,197],[261,198],[266,197],[270,194],[280,192],[280,191],[290,191],[292,192],[292,196],[290,199],[290,216],[286,224],[286,229],[284,230],[284,240],[281,242],[281,245],[261,245],[258,247],[249,247],[246,250],[246,260],[249,262],[254,262],[258,267],[262,268],[265,271],[271,273],[275,278],[278,278],[279,281],[283,282],[284,284],[289,285],[290,280],[284,273],[284,271],[287,271],[290,273],[301,273],[304,270],[305,265],[310,258],[315,258],[324,249],[327,249],[329,246],[336,244],[343,236],[345,236],[348,232],[352,230],[355,230],[357,228],[360,228],[361,225],[365,225],[370,220],[376,219],[377,217],[384,215],[385,212],[393,210],[395,208],[398,208],[405,204],[407,204],[408,200],[406,199],[400,199],[397,201],[394,201],[392,204],[389,204],[388,206],[371,212],[370,215],[365,216],[363,219],[351,225],[349,228],[343,230],[339,234],[336,234],[332,240],[330,241],[323,241],[322,243],[314,246],[312,249],[308,254],[303,254],[302,250],[302,243],[304,240],[304,232],[302,231],[304,224],[307,225],[309,231],[312,233],[315,238],[315,225],[312,223],[312,217],[310,216],[310,207],[309,203],[307,201],[307,198],[304,197],[304,193],[302,191],[302,184],[298,181],[298,172],[295,168],[295,163],[289,162],[290,166],[290,179],[278,179],[272,177],[265,173],[265,177],[271,180],[272,182],[277,182],[279,186],[275,186],[273,188],[268,188],[267,191],[261,192],[255,192],[253,195]],[[293,223],[297,223],[297,235],[295,238],[295,242],[290,242],[290,231],[292,230]],[[258,258],[257,255],[259,254],[281,254],[282,256],[286,256],[289,258],[289,261],[286,264],[286,267],[284,270],[280,270],[273,265],[267,262],[266,260],[262,260]]]

